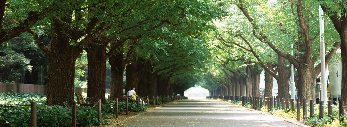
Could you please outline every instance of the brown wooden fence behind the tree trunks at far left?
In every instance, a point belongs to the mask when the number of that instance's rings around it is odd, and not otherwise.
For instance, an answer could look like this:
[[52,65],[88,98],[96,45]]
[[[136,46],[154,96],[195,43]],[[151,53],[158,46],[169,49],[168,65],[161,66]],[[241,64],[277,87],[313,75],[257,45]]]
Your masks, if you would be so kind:
[[[110,91],[110,90],[108,90]],[[47,85],[22,84],[22,83],[2,83],[0,82],[0,92],[10,93],[42,93],[47,94]],[[75,93],[87,92],[87,88],[74,87]]]

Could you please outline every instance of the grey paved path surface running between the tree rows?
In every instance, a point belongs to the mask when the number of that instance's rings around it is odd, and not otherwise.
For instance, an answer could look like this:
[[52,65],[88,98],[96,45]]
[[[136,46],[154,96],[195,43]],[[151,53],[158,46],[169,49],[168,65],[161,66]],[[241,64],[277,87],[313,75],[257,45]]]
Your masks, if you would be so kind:
[[228,102],[210,99],[187,99],[137,116],[124,123],[129,127],[298,127],[273,115],[260,114]]

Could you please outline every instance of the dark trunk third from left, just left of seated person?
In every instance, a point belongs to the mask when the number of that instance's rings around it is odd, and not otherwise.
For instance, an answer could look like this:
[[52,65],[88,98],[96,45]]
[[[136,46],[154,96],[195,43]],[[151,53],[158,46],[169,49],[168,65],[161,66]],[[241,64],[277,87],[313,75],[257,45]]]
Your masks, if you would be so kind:
[[[112,55],[109,58],[111,65],[111,84],[110,84],[110,99],[123,99],[123,75],[124,75],[124,54],[121,51]],[[129,91],[129,88],[125,88],[125,94]]]

